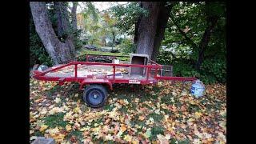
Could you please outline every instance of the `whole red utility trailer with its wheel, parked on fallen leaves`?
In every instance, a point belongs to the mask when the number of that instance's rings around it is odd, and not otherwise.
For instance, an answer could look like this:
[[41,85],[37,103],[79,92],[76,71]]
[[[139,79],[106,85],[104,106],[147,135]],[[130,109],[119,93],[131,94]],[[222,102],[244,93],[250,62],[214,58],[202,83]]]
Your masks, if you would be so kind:
[[[86,55],[86,60],[88,57]],[[43,81],[58,81],[60,85],[64,82],[78,82],[80,90],[84,90],[83,100],[91,107],[104,105],[107,98],[106,86],[113,90],[112,85],[114,83],[149,85],[156,84],[160,80],[185,82],[197,79],[162,76],[162,73],[158,74],[159,71],[162,72],[162,68],[162,65],[150,59],[144,64],[134,64],[132,61],[129,64],[70,62],[43,71],[34,70],[32,78]],[[142,71],[142,74],[138,74],[138,69]]]

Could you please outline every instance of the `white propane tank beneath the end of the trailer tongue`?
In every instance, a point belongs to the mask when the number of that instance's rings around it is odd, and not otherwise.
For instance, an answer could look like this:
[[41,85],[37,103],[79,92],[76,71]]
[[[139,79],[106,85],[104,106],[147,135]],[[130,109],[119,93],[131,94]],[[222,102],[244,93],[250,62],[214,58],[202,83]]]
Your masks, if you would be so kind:
[[200,80],[196,80],[194,84],[191,86],[190,90],[191,94],[193,94],[196,98],[202,97],[205,92],[205,86]]

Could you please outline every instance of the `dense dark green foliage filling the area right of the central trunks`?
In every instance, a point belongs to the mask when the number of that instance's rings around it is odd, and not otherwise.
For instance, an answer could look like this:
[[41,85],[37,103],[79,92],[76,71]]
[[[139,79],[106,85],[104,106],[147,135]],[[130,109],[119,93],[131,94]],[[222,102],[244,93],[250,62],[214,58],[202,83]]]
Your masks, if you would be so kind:
[[[167,23],[157,62],[174,66],[174,75],[197,77],[205,83],[226,82],[226,8],[224,2],[175,2]],[[194,68],[198,61],[199,45],[209,26],[207,18],[218,17],[210,34],[202,66]],[[180,32],[182,30],[184,34]]]

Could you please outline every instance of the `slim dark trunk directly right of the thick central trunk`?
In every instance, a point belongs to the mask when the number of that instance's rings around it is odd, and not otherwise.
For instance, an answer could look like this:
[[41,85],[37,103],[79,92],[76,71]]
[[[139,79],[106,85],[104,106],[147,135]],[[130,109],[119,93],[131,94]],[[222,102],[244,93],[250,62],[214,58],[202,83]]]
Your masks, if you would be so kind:
[[154,37],[154,48],[151,56],[151,59],[153,61],[156,61],[156,58],[158,56],[159,48],[161,46],[162,39],[164,38],[166,25],[170,17],[170,10],[172,5],[170,6],[165,6],[165,5],[166,5],[166,2],[161,2],[160,11],[158,14],[157,30]]

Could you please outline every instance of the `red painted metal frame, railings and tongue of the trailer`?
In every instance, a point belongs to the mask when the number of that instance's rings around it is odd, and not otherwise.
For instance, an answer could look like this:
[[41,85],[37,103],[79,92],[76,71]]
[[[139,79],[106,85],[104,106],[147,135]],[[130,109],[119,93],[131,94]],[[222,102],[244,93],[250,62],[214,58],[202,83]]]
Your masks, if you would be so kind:
[[[88,60],[88,56],[86,55],[86,60]],[[60,65],[57,67],[51,67],[45,71],[34,70],[34,75],[32,78],[44,81],[58,81],[60,84],[63,82],[78,82],[80,83],[80,89],[86,84],[91,83],[100,83],[106,84],[110,86],[110,90],[113,90],[112,84],[114,83],[130,83],[130,84],[155,84],[159,80],[171,80],[171,81],[194,81],[197,78],[186,78],[186,77],[163,77],[158,76],[158,70],[162,69],[162,65],[159,65],[157,62],[151,61],[151,64],[148,65],[138,65],[138,64],[117,64],[117,63],[104,63],[104,62],[70,62],[68,64]],[[112,66],[113,67],[113,78],[107,78],[106,75],[102,77],[97,77],[94,75],[88,75],[86,77],[78,77],[78,64],[86,65],[86,66]],[[49,77],[46,74],[49,72],[54,72],[55,70],[60,70],[66,66],[74,65],[74,77]],[[146,78],[136,79],[134,82],[134,78],[116,78],[116,66],[119,67],[144,67],[146,68]],[[151,69],[154,69],[154,74],[151,74]]]

